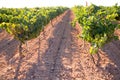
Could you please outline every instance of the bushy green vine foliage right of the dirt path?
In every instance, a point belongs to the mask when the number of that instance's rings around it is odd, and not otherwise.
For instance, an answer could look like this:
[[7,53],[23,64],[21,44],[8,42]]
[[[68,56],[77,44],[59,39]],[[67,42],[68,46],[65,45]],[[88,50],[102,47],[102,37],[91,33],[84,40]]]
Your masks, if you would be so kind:
[[72,25],[75,26],[78,22],[82,27],[80,37],[91,44],[90,54],[98,53],[107,42],[118,39],[114,34],[114,31],[120,28],[117,23],[120,20],[120,6],[117,4],[111,7],[94,4],[75,6],[72,10],[76,16]]

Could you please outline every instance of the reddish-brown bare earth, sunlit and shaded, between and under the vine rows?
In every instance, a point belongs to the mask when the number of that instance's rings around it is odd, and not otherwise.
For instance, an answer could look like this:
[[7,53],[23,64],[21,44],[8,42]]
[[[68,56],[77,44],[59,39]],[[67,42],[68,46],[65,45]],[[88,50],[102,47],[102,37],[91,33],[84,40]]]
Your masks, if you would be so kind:
[[120,41],[106,44],[95,66],[89,43],[83,48],[83,40],[77,37],[79,25],[73,28],[70,24],[73,18],[66,11],[54,19],[54,26],[49,23],[40,36],[23,45],[23,58],[19,42],[0,31],[0,80],[120,80]]

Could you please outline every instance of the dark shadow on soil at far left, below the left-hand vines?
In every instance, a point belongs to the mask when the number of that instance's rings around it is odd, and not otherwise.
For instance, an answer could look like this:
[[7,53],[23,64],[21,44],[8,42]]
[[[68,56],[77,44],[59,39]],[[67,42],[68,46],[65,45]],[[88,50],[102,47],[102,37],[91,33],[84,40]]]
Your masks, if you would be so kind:
[[0,46],[0,55],[4,55],[7,63],[9,64],[9,60],[15,55],[19,42],[14,39],[3,39],[0,41],[0,44],[3,44]]

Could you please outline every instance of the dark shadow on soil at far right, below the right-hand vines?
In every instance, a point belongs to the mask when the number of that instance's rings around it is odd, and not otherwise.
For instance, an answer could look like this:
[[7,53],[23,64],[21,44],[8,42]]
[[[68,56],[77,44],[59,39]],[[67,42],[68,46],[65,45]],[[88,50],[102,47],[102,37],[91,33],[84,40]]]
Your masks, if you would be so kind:
[[112,41],[106,44],[103,52],[114,64],[108,63],[104,69],[100,66],[98,68],[113,75],[112,80],[120,80],[120,41]]

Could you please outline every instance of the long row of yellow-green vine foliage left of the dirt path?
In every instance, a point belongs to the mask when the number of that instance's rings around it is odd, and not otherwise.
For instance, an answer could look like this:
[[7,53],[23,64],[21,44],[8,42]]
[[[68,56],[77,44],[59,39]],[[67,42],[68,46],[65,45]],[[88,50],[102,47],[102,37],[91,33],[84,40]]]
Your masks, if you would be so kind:
[[21,43],[37,37],[53,18],[62,14],[65,7],[1,8],[0,28],[14,35]]

